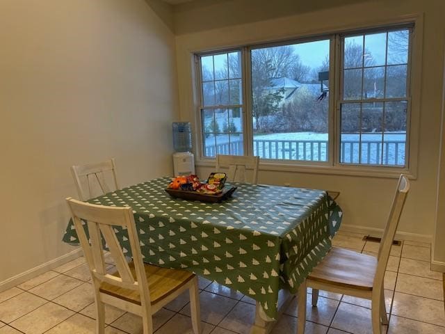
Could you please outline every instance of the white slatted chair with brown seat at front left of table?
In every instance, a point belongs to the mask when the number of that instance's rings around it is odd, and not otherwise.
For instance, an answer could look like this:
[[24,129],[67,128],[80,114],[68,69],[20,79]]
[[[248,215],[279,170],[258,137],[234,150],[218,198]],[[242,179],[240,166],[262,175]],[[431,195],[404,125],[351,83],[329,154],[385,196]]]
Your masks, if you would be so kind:
[[[74,227],[85,253],[95,291],[96,333],[104,334],[105,304],[140,315],[143,333],[153,333],[152,315],[188,290],[193,332],[201,333],[197,277],[184,270],[144,264],[131,207],[106,207],[67,198]],[[90,240],[83,224],[87,221]],[[127,228],[133,261],[127,263],[114,226]],[[103,240],[103,239],[104,240]],[[107,273],[102,241],[106,242],[117,271]]]

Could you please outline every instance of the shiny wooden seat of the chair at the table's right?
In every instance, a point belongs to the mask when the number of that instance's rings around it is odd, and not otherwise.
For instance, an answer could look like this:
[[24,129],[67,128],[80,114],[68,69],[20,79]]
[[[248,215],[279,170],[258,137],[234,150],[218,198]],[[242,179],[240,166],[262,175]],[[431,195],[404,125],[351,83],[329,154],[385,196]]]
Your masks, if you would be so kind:
[[376,270],[376,257],[333,247],[308,278],[339,287],[371,291]]

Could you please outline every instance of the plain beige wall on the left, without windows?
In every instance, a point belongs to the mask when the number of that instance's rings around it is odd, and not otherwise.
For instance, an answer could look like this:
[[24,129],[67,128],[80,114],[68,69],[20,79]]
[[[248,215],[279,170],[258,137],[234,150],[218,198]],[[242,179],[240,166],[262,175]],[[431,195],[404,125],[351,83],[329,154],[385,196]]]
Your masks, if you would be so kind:
[[0,1],[0,283],[73,250],[70,166],[172,170],[175,41],[143,0]]

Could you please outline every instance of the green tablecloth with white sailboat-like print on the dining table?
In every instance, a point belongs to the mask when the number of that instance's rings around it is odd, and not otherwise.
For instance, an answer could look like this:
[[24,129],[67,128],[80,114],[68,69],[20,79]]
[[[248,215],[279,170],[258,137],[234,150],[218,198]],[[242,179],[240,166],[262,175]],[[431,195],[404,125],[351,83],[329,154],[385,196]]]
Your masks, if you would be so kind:
[[[279,289],[298,285],[331,247],[341,209],[325,191],[234,183],[221,203],[171,198],[170,177],[89,200],[131,206],[145,262],[182,268],[236,289],[275,318]],[[131,256],[127,230],[115,228]],[[70,221],[63,237],[79,244]]]

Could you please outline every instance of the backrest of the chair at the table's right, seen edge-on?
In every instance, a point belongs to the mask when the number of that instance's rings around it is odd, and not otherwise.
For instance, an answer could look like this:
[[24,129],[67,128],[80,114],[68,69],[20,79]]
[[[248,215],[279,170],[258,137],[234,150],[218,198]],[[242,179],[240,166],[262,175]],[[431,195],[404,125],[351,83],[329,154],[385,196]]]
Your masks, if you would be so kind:
[[405,175],[401,175],[398,179],[396,193],[392,200],[391,211],[385,230],[383,232],[382,241],[378,250],[378,267],[374,278],[374,287],[376,285],[382,285],[383,278],[385,277],[385,270],[387,267],[389,253],[391,252],[391,246],[396,235],[398,222],[400,221],[403,206],[408,191],[410,191],[410,181]]

